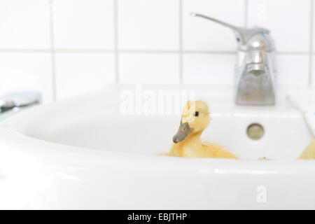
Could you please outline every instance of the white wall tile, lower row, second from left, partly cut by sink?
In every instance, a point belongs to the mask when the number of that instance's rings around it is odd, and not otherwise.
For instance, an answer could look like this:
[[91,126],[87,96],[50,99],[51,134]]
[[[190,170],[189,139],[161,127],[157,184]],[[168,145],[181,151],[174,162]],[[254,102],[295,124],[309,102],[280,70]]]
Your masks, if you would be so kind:
[[113,53],[57,53],[57,99],[97,90],[113,83]]

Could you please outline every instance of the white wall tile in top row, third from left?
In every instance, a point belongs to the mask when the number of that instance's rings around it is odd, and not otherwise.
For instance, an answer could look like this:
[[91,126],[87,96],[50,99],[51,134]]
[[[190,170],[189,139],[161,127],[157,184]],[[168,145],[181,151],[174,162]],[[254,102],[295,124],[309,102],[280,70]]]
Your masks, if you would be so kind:
[[120,50],[179,50],[179,0],[118,0]]

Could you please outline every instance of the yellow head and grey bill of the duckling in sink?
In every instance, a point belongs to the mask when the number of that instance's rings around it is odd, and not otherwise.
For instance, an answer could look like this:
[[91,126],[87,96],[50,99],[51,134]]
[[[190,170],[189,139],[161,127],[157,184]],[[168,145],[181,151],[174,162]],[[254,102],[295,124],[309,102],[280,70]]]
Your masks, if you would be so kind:
[[209,109],[205,102],[188,101],[183,108],[181,125],[173,137],[174,143],[183,141],[190,134],[202,133],[209,125]]

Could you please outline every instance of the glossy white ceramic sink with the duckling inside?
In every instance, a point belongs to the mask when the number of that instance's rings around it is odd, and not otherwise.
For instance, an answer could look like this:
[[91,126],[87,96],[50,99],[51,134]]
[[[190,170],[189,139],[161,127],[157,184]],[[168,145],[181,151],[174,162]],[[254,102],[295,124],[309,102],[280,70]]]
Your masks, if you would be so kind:
[[[315,161],[296,160],[313,137],[281,91],[276,106],[254,107],[235,106],[232,89],[181,88],[209,104],[204,139],[238,160],[157,156],[180,115],[123,115],[121,94],[137,87],[111,86],[1,123],[0,168],[20,208],[315,209]],[[248,138],[251,123],[262,139]]]

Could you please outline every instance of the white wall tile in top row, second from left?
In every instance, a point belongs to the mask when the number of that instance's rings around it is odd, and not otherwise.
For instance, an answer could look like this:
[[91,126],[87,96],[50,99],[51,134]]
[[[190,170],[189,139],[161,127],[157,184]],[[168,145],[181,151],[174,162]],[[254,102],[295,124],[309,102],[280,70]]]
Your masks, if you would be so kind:
[[113,0],[54,0],[55,48],[114,49]]

